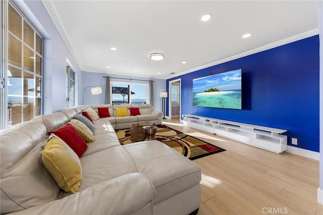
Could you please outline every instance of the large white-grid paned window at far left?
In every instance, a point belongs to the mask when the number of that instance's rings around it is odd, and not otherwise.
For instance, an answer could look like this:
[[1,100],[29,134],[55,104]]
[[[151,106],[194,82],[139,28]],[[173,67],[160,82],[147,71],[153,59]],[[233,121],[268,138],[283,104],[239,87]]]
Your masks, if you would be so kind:
[[9,127],[42,114],[43,37],[11,2],[8,2],[7,12],[5,126]]

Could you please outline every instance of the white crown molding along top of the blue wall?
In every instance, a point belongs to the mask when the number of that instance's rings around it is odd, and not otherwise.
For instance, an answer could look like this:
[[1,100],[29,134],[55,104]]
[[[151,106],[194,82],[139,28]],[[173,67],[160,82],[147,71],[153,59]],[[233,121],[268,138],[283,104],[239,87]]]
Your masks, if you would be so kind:
[[264,45],[264,46],[260,46],[258,48],[255,48],[255,49],[252,49],[252,50],[249,50],[249,51],[239,53],[238,55],[234,55],[234,56],[231,56],[229,58],[222,59],[220,61],[209,63],[209,64],[206,64],[206,65],[203,65],[203,66],[200,66],[200,67],[196,67],[194,69],[190,69],[190,70],[178,73],[176,75],[169,76],[166,79],[178,77],[180,75],[185,75],[187,73],[195,72],[197,70],[201,70],[201,69],[205,69],[205,68],[208,68],[208,67],[223,64],[223,63],[226,63],[226,62],[229,62],[229,61],[233,61],[233,60],[236,60],[236,59],[239,59],[239,58],[243,58],[243,57],[246,57],[246,56],[249,56],[249,55],[253,55],[254,53],[258,53],[258,52],[265,51],[265,50],[272,49],[272,48],[276,48],[278,46],[285,45],[285,44],[288,44],[288,43],[291,43],[291,42],[295,42],[295,41],[298,41],[298,40],[301,40],[301,39],[305,39],[305,38],[308,38],[308,37],[311,37],[311,36],[314,36],[314,35],[317,35],[317,34],[318,34],[318,28],[316,28],[314,30],[311,30],[311,31],[307,31],[307,32],[298,34],[298,35],[295,35],[295,36],[292,36],[292,37],[288,37],[288,38],[283,39],[283,40],[279,40],[277,42],[273,42],[273,43],[270,43],[270,44],[267,44],[267,45]]

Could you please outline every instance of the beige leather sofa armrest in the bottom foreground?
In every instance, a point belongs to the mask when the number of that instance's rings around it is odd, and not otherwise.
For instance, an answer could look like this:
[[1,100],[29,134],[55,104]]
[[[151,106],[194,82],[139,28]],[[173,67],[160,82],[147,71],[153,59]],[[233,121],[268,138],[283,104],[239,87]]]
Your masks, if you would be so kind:
[[154,197],[150,180],[141,173],[130,173],[12,214],[130,214]]

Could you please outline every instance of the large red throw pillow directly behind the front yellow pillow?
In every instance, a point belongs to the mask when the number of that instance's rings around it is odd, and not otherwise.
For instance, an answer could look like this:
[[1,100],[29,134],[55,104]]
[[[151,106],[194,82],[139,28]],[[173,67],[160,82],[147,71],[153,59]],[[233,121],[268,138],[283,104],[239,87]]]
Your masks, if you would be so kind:
[[75,151],[79,157],[81,157],[87,149],[87,145],[81,135],[79,135],[70,124],[63,126],[56,131],[48,131],[48,135],[51,133],[59,136],[73,149],[73,151]]

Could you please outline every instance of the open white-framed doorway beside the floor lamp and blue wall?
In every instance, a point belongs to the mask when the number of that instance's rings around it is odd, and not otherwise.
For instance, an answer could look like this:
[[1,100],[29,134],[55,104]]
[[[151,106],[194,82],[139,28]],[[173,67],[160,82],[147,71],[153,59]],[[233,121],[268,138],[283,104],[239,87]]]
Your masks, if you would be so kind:
[[181,79],[169,82],[168,119],[181,117]]

